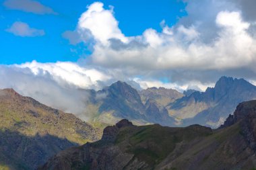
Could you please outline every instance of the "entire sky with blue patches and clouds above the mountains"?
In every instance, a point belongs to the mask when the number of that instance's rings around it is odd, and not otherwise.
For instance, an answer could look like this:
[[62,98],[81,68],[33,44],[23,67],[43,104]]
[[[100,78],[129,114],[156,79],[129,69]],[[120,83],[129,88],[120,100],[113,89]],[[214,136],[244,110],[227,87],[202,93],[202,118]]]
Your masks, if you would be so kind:
[[255,0],[0,3],[0,88],[67,112],[84,110],[81,89],[118,80],[181,92],[223,75],[256,84]]

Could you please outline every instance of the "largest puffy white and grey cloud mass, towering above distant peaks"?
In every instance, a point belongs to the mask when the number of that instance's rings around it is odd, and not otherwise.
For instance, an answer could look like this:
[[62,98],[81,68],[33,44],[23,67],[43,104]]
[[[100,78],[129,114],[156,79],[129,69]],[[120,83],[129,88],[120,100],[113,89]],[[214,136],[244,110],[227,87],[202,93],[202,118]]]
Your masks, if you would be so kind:
[[[167,26],[163,21],[162,32],[148,28],[132,37],[125,36],[119,29],[113,8],[104,9],[103,3],[92,3],[82,13],[75,30],[80,41],[94,40],[87,63],[123,69],[131,77],[145,77],[144,74],[150,77],[150,72],[151,79],[157,79],[154,75],[160,73],[182,75],[204,71],[211,75],[214,72],[229,75],[230,71],[237,73],[245,68],[255,73],[256,38],[250,33],[253,23],[245,19],[245,11],[239,5],[241,1],[186,2],[188,16],[176,25]],[[182,78],[169,78],[181,84]],[[212,83],[216,79],[214,77]],[[188,77],[187,81],[202,83],[203,78]]]

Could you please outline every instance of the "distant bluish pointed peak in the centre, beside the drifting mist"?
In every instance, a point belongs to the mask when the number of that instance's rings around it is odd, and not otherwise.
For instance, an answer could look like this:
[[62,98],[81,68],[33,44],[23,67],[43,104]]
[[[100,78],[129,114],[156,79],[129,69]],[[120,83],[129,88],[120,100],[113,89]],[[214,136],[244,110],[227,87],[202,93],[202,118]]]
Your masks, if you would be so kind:
[[159,123],[170,126],[174,119],[155,99],[141,101],[136,89],[125,82],[117,81],[100,91],[90,91],[86,115],[91,114],[91,122],[114,124],[120,119],[129,119],[135,124]]

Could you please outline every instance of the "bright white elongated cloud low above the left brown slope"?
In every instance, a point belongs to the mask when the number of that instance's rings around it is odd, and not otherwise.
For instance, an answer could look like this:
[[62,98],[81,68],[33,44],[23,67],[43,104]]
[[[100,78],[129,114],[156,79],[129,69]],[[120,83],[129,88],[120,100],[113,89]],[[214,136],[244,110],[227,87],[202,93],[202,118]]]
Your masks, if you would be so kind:
[[27,68],[34,75],[51,75],[59,84],[68,83],[82,89],[100,89],[98,81],[108,81],[111,77],[97,69],[80,67],[73,62],[40,63],[26,62],[15,67]]

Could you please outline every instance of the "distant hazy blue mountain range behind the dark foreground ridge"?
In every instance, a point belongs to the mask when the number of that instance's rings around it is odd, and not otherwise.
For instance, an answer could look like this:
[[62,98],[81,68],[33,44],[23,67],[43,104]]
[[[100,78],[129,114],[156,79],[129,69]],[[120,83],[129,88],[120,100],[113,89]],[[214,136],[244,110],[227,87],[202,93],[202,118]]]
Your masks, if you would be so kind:
[[88,90],[86,115],[91,122],[115,124],[123,118],[134,124],[189,126],[201,124],[217,128],[236,105],[256,99],[256,87],[245,79],[221,77],[205,92],[190,89],[180,93],[164,87],[137,91],[118,81],[100,91]]

